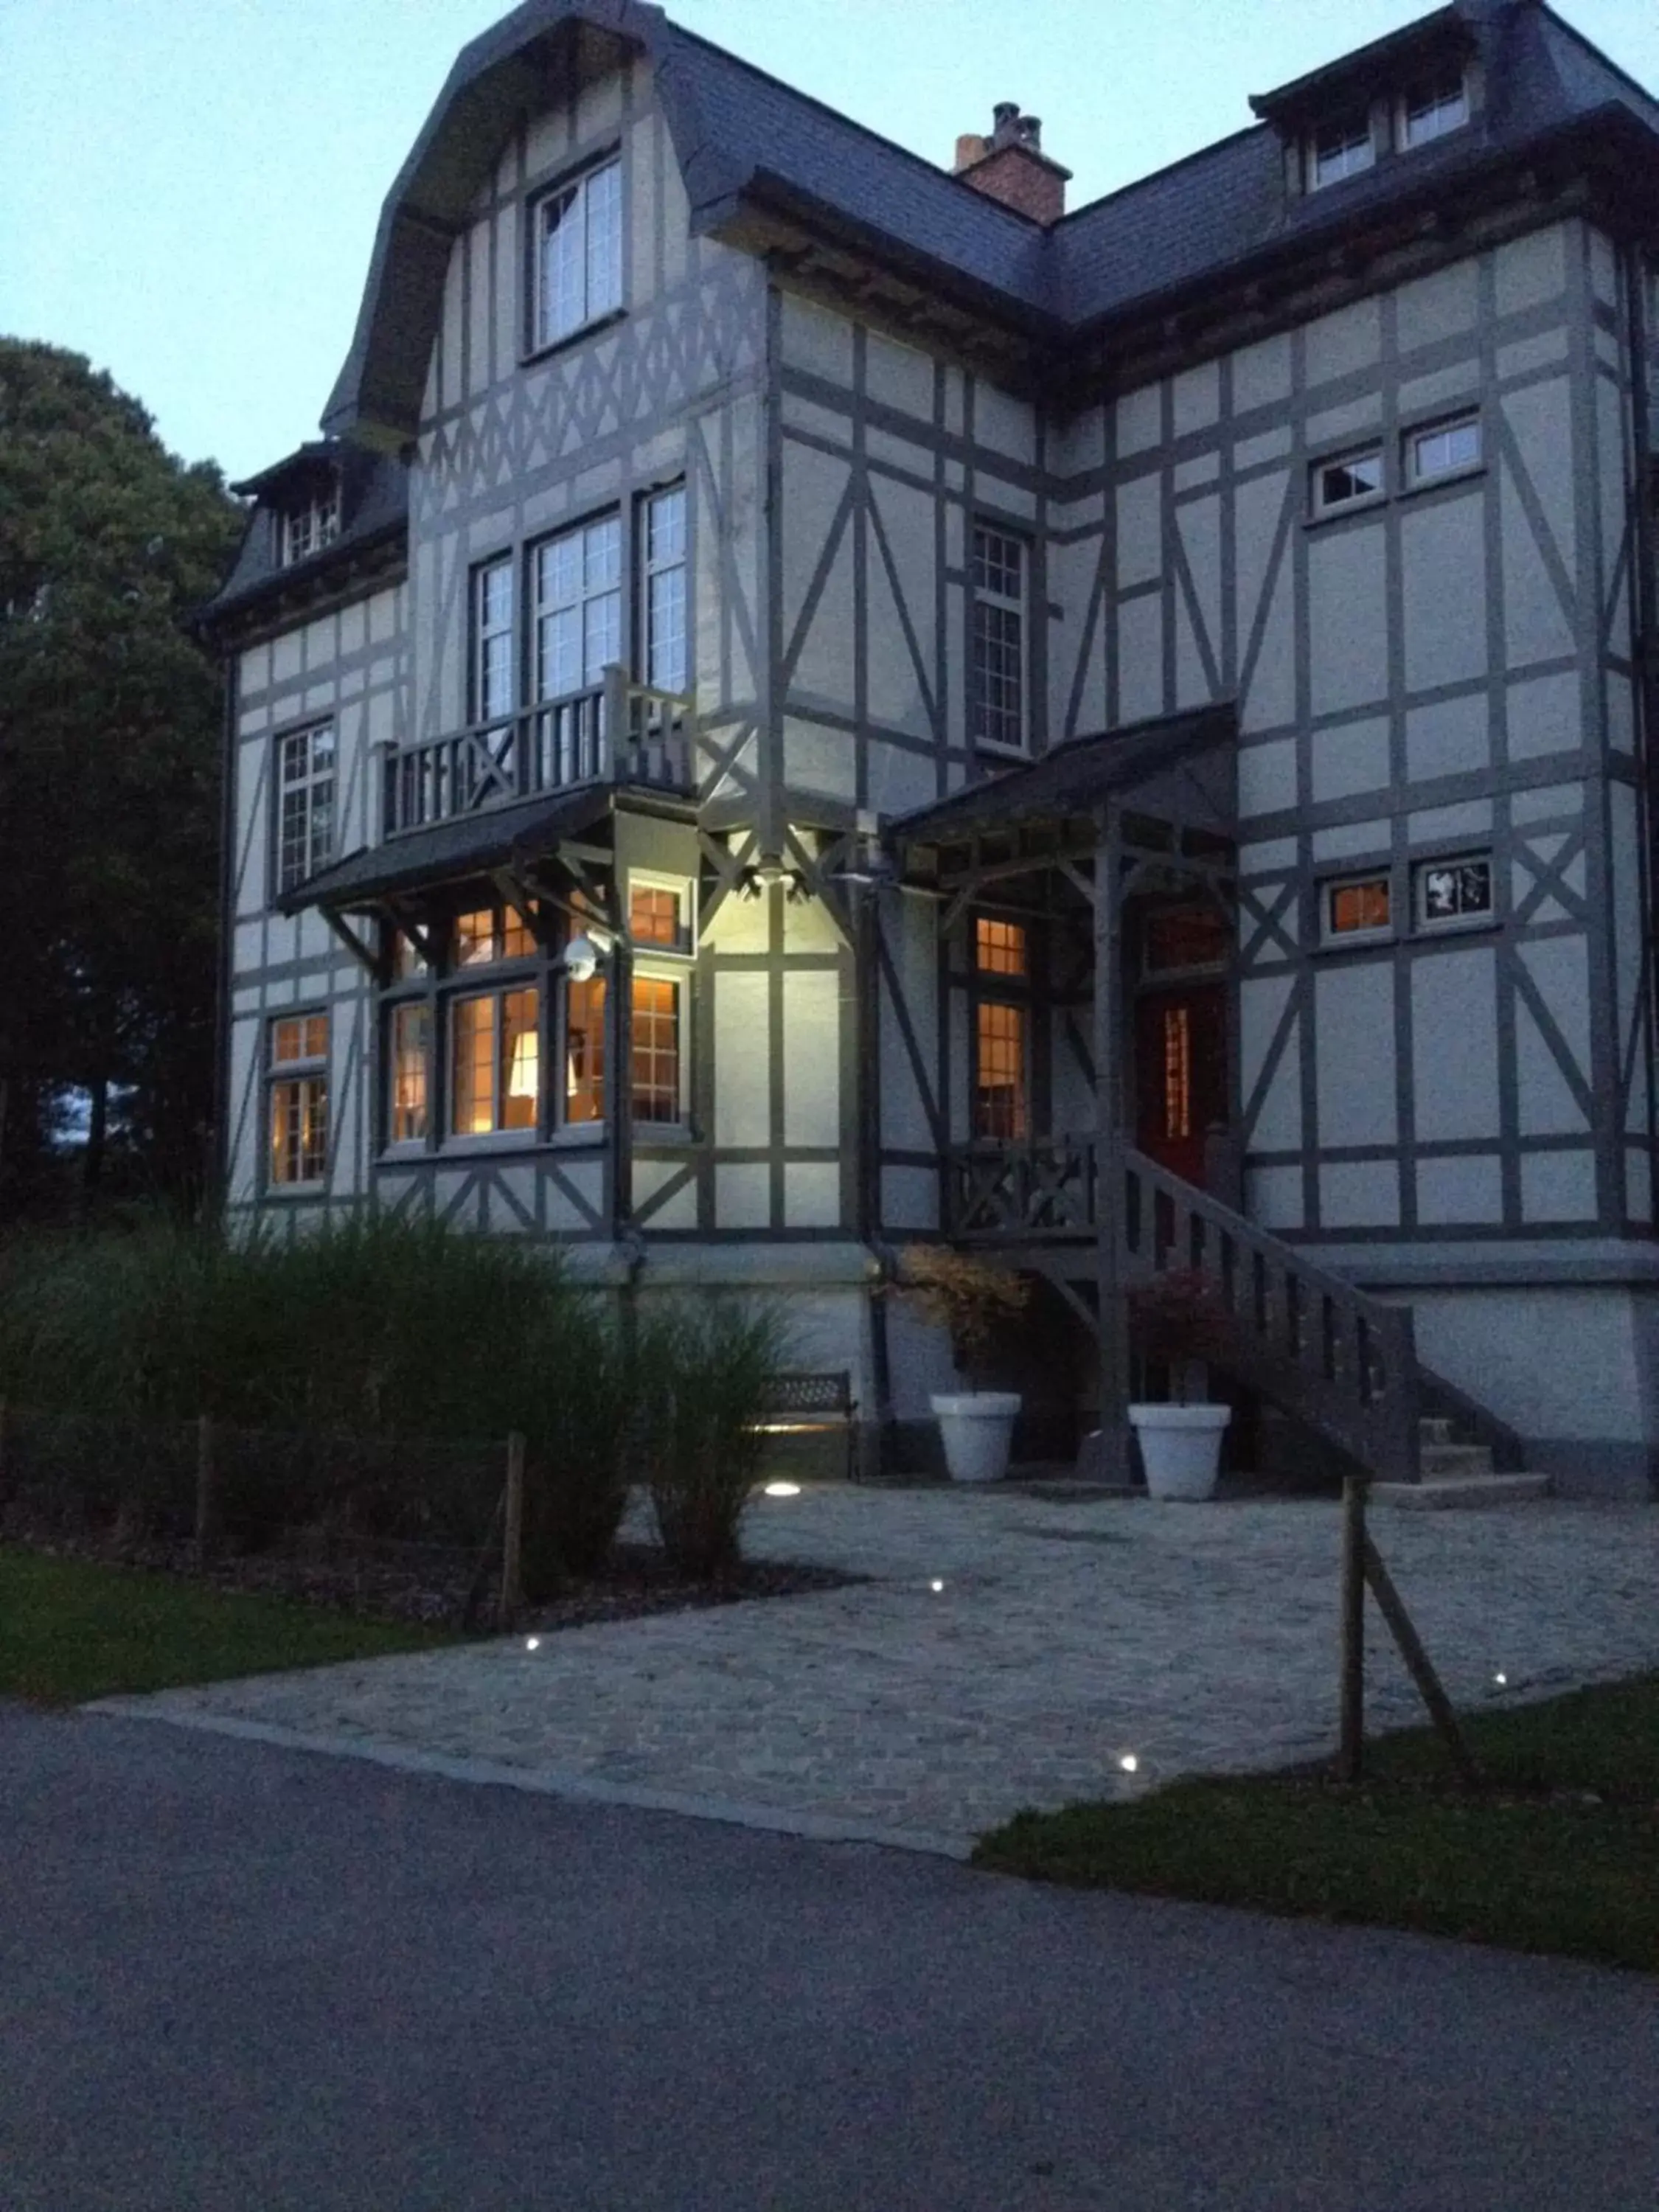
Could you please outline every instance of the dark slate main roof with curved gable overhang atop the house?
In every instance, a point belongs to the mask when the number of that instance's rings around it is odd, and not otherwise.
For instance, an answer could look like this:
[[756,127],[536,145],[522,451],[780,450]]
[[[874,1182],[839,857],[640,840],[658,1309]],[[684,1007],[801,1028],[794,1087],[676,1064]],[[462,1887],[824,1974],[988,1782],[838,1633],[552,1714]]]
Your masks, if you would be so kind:
[[[1378,164],[1340,192],[1287,195],[1285,119],[1310,100],[1367,82],[1455,31],[1482,62],[1473,122]],[[1394,201],[1447,192],[1551,137],[1639,128],[1659,137],[1659,104],[1579,38],[1544,0],[1453,0],[1420,24],[1256,100],[1274,119],[1144,177],[1044,230],[920,155],[668,20],[644,0],[524,0],[449,73],[387,195],[352,352],[325,422],[385,438],[414,431],[449,246],[509,128],[529,113],[560,55],[582,42],[644,51],[692,204],[692,228],[719,232],[741,204],[794,215],[931,288],[1060,343],[1146,312],[1194,283],[1274,259]]]

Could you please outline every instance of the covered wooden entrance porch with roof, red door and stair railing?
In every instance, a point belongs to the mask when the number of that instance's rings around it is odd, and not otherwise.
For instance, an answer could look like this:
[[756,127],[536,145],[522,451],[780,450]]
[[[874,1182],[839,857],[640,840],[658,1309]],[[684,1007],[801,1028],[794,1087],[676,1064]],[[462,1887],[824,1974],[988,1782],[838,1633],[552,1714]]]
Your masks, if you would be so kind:
[[1234,763],[1232,708],[1203,708],[1077,739],[891,827],[962,1006],[940,1230],[1051,1283],[1084,1323],[1108,1478],[1128,1469],[1128,1292],[1183,1274],[1223,1314],[1234,1383],[1413,1480],[1409,1310],[1245,1217]]

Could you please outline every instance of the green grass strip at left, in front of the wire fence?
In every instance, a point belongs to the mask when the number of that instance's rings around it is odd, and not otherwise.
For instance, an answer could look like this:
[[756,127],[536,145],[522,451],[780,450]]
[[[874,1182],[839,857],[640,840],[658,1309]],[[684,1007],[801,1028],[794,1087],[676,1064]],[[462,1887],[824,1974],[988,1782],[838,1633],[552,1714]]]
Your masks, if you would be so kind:
[[0,1697],[75,1705],[449,1641],[440,1628],[0,1548]]

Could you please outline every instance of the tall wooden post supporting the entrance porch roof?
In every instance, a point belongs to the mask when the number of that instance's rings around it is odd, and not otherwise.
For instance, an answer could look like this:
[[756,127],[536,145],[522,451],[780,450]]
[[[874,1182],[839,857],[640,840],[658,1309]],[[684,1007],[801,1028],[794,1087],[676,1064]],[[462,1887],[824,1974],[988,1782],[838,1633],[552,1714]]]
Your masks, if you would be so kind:
[[1106,1482],[1128,1482],[1128,1307],[1124,1303],[1124,838],[1108,799],[1095,838],[1095,1287],[1099,1329],[1099,1460]]

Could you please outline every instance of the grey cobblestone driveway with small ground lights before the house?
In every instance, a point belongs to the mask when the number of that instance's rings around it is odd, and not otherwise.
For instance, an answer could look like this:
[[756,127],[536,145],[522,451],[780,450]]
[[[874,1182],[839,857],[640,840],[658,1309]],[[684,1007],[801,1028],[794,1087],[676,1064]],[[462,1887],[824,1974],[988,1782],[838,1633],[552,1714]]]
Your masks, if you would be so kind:
[[[1376,1513],[1374,1531],[1458,1703],[1659,1666],[1652,1509]],[[834,1484],[757,1500],[750,1546],[872,1579],[113,1708],[958,1854],[1022,1805],[1332,1745],[1334,1504]],[[1418,1719],[1376,1615],[1369,1652],[1371,1723]]]

